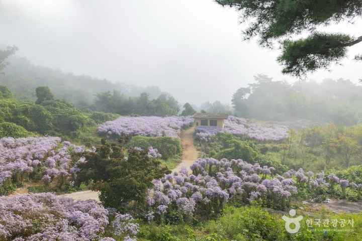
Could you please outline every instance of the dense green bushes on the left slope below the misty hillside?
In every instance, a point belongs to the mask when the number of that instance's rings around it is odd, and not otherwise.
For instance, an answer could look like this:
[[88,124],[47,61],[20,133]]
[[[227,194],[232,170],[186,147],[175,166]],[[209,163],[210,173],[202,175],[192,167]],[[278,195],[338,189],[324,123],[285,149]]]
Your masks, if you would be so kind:
[[[82,112],[63,100],[54,99],[48,87],[37,88],[37,103],[12,98],[5,86],[0,98],[0,137],[27,137],[37,133],[65,139],[88,141],[96,124],[111,121],[118,115],[103,112]],[[89,143],[87,143],[89,145]]]

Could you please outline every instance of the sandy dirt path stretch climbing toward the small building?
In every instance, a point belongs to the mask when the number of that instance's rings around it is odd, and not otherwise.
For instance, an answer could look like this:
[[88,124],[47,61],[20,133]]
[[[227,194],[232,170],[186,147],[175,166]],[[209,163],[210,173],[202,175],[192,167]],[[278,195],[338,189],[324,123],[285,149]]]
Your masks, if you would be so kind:
[[184,167],[190,170],[190,166],[198,159],[199,152],[194,146],[194,132],[195,127],[192,127],[180,134],[181,145],[183,147],[182,161],[172,170],[173,172],[179,171]]

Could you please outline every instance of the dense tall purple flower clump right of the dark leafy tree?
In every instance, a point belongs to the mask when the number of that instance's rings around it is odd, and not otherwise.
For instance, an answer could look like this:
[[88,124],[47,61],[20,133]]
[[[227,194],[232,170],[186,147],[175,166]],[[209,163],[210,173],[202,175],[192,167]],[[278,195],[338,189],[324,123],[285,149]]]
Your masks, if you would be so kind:
[[[162,215],[176,209],[185,217],[191,217],[203,210],[220,211],[231,199],[245,203],[273,198],[279,201],[281,198],[289,200],[297,193],[292,181],[274,177],[273,167],[260,167],[240,159],[198,159],[191,169],[193,174],[183,169],[153,180],[147,202],[154,213]],[[272,179],[265,179],[266,176]]]

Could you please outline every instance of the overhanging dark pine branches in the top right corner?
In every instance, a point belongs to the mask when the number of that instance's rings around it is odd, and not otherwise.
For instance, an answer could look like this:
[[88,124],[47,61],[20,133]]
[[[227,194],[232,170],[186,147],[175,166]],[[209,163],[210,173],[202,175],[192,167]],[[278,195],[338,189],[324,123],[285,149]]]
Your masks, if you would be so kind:
[[[263,47],[273,47],[280,40],[282,54],[278,62],[284,65],[283,73],[298,77],[319,68],[328,68],[346,57],[347,48],[362,42],[362,36],[317,32],[319,26],[352,21],[362,16],[360,0],[216,0],[241,13],[241,23],[248,23],[245,40],[259,36]],[[308,31],[304,39],[291,40],[294,35]],[[355,56],[356,60],[361,55]]]

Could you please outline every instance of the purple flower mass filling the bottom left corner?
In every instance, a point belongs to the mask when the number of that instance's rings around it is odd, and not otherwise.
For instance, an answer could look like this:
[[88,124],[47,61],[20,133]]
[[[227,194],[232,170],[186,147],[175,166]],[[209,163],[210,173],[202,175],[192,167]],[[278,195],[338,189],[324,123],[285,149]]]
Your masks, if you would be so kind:
[[100,240],[107,225],[108,211],[93,200],[51,193],[0,197],[0,240]]

